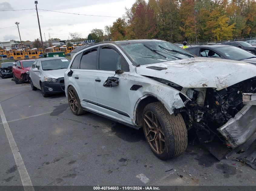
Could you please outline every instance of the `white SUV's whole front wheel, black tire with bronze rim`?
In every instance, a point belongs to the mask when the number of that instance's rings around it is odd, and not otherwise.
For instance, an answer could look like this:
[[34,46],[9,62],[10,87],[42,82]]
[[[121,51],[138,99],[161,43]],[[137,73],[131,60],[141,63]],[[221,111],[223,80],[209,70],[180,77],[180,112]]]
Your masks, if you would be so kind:
[[188,133],[181,114],[170,115],[160,102],[144,108],[143,131],[151,150],[162,160],[177,157],[187,148]]

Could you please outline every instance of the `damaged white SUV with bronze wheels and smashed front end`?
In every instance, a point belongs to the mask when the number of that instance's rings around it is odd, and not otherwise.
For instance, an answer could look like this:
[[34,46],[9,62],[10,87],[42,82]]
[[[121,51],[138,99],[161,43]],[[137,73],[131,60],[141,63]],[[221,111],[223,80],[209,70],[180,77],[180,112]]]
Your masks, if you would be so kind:
[[185,151],[192,128],[205,143],[217,137],[230,148],[256,131],[256,66],[195,57],[161,40],[86,47],[65,72],[65,93],[75,115],[89,111],[142,127],[163,160]]

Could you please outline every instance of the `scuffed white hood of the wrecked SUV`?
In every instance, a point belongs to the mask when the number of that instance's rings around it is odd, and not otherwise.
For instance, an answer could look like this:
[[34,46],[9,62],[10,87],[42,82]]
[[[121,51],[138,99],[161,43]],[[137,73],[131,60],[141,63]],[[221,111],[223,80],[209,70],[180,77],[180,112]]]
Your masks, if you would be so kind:
[[[148,66],[166,67],[155,70]],[[221,90],[256,76],[256,66],[234,60],[195,57],[136,67],[139,75],[162,78],[184,88]]]

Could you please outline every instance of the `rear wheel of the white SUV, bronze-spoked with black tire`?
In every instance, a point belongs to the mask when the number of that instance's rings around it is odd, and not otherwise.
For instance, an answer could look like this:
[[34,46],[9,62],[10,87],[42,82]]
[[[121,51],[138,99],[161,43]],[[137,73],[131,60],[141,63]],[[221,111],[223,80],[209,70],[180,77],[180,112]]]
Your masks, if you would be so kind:
[[[71,95],[71,92],[72,94],[75,94],[75,95]],[[75,99],[73,99],[72,97],[75,97]],[[72,101],[73,100],[73,101]],[[74,109],[72,107],[73,103],[77,102],[77,106],[76,106],[76,109]],[[81,104],[80,104],[80,99],[78,97],[78,94],[77,92],[75,91],[75,88],[73,88],[72,86],[69,86],[68,88],[68,105],[71,109],[71,111],[75,114],[75,115],[82,115],[84,113],[86,113],[86,111],[83,110]]]

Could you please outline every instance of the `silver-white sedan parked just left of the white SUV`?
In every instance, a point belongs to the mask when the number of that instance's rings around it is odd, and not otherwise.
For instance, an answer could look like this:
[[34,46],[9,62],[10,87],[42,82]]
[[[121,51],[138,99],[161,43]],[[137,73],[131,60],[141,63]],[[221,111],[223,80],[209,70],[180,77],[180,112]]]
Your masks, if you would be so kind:
[[64,73],[69,63],[64,57],[36,59],[29,71],[32,90],[40,89],[43,97],[64,92]]

